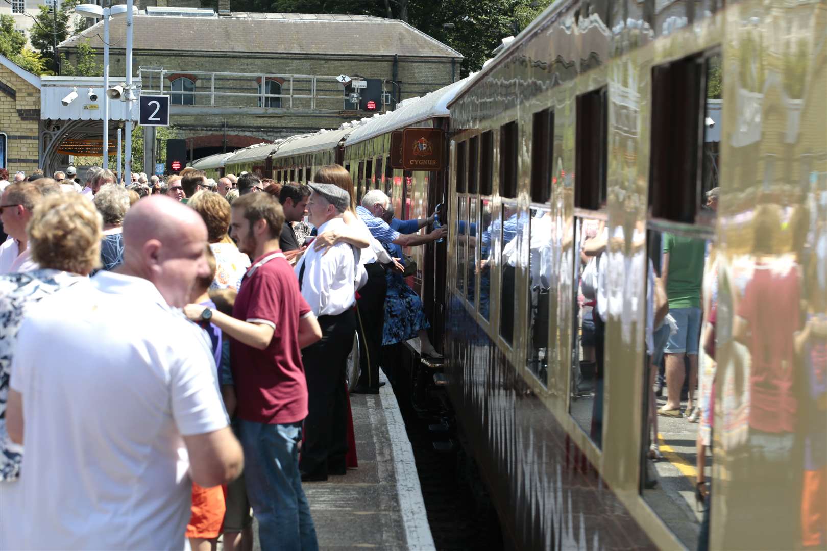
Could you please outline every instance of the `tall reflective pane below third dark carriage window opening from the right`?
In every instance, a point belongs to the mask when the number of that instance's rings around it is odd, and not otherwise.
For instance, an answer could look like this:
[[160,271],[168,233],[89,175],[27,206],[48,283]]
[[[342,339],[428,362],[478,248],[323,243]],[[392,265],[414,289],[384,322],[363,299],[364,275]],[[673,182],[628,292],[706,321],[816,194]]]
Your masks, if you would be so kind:
[[528,370],[548,385],[548,330],[552,281],[552,216],[532,209],[528,221]]

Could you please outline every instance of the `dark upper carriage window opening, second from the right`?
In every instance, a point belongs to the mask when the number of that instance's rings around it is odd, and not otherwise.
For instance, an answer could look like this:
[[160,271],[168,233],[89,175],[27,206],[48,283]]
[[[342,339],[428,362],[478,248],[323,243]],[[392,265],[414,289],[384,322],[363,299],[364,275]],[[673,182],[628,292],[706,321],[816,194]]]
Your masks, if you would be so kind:
[[577,96],[574,206],[596,211],[606,200],[606,88]]

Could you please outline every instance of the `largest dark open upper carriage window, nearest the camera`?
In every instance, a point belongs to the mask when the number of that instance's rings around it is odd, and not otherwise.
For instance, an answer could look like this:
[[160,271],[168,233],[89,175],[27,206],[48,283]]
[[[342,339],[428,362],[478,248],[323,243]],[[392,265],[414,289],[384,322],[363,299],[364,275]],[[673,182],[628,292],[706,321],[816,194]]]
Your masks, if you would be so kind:
[[[652,69],[653,216],[688,224],[710,214],[718,185],[720,55],[691,55]],[[680,129],[678,131],[678,129]]]

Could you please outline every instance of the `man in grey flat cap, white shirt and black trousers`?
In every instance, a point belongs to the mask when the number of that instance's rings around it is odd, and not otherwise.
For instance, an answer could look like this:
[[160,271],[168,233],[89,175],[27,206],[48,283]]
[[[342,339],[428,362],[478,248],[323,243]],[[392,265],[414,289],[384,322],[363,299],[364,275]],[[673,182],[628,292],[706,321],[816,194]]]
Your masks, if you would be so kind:
[[[321,235],[344,229],[342,213],[351,197],[330,183],[309,183],[310,223]],[[324,481],[345,474],[347,454],[347,354],[356,333],[356,266],[358,251],[347,243],[327,250],[308,247],[295,272],[299,288],[322,328],[322,340],[302,350],[308,382],[308,416],[299,469],[302,481]]]

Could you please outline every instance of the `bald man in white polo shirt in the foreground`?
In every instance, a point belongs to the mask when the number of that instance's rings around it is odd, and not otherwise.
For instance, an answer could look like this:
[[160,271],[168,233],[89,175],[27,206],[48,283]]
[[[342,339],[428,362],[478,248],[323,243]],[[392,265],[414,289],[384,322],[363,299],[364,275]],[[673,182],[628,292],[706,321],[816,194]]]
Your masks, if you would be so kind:
[[25,549],[184,549],[192,482],[241,473],[212,351],[177,309],[208,274],[207,228],[151,196],[123,240],[117,273],[48,297],[19,333],[7,423],[31,473]]

